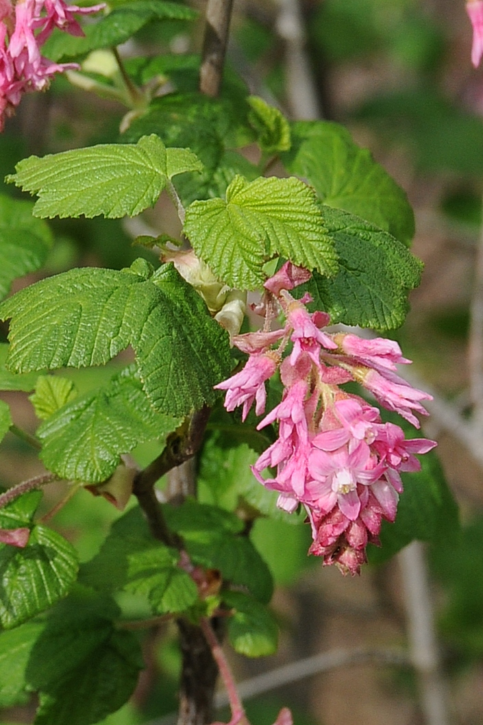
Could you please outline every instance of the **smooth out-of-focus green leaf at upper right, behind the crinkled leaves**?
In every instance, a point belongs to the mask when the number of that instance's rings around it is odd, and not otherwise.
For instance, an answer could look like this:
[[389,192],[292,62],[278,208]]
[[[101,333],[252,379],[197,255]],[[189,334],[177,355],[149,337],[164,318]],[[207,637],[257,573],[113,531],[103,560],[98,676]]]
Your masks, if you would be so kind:
[[294,123],[292,149],[282,160],[291,173],[307,179],[324,204],[355,214],[405,244],[413,238],[414,215],[405,192],[343,126]]

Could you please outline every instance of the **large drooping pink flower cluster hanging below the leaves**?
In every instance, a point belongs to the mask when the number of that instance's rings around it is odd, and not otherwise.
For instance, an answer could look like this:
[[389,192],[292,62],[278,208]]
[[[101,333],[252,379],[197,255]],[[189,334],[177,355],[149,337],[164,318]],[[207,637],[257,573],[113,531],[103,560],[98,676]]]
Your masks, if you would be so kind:
[[[325,312],[310,314],[310,296],[294,299],[289,289],[307,280],[307,270],[291,262],[267,283],[267,310],[275,298],[284,312],[283,329],[239,335],[234,344],[249,353],[241,372],[216,386],[226,390],[228,410],[243,406],[246,418],[252,402],[265,412],[265,381],[280,367],[284,394],[279,405],[257,428],[278,423],[278,439],[252,467],[258,481],[278,491],[278,506],[292,513],[305,506],[312,525],[310,553],[324,565],[337,564],[344,573],[359,573],[366,562],[366,545],[378,543],[382,519],[394,521],[402,492],[402,471],[421,468],[415,454],[436,443],[405,440],[402,428],[383,423],[379,409],[339,386],[357,381],[388,410],[419,427],[414,413],[427,415],[421,400],[431,396],[397,376],[397,364],[410,363],[396,342],[331,334]],[[283,357],[292,342],[292,351]],[[278,349],[272,349],[279,342]],[[276,468],[273,479],[262,476]]]

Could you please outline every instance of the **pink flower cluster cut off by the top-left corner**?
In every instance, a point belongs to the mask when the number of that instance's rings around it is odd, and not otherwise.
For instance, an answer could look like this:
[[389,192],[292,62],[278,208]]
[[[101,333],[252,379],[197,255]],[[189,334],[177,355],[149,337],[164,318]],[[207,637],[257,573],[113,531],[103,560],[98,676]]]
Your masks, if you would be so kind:
[[65,0],[19,0],[12,6],[0,0],[0,130],[12,116],[27,91],[44,91],[54,73],[78,68],[76,63],[58,64],[41,55],[40,48],[54,28],[73,36],[83,31],[74,13],[102,9],[67,5]]

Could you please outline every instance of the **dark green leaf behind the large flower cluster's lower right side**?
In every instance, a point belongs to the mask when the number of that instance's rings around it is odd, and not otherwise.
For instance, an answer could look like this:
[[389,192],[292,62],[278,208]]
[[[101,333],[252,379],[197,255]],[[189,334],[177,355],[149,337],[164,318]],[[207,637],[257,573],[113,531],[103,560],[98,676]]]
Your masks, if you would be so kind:
[[402,482],[404,492],[395,523],[383,521],[381,548],[369,547],[369,560],[373,563],[386,561],[414,539],[438,545],[441,538],[458,536],[458,505],[436,452],[421,456],[421,471],[402,473]]

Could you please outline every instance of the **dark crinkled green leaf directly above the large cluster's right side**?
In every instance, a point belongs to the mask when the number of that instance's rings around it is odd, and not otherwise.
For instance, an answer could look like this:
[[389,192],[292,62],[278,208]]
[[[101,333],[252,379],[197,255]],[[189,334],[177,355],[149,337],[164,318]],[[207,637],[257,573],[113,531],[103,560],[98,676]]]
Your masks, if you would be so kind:
[[323,207],[323,216],[339,255],[339,273],[314,273],[297,296],[309,291],[313,305],[326,310],[331,323],[392,330],[408,312],[408,291],[418,286],[422,262],[389,233],[341,210]]

